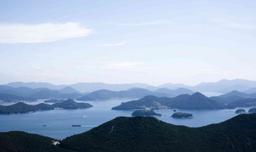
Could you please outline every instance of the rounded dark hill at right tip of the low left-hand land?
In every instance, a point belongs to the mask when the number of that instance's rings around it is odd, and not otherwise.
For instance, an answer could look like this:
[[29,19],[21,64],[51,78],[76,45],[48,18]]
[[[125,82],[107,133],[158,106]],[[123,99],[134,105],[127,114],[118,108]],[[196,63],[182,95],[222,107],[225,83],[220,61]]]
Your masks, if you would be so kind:
[[91,108],[93,105],[89,103],[75,102],[72,99],[68,99],[65,102],[58,102],[52,105],[53,108],[65,108],[65,109],[77,109],[77,108]]

